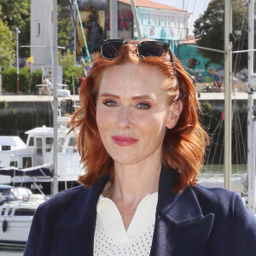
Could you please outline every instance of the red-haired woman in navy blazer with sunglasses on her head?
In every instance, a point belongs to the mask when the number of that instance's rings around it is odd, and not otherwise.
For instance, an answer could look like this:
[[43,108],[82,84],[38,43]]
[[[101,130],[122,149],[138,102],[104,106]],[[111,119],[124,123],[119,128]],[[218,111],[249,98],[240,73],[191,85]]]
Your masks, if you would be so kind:
[[82,186],[38,207],[25,255],[255,255],[239,195],[196,184],[208,137],[168,44],[105,40],[71,121]]

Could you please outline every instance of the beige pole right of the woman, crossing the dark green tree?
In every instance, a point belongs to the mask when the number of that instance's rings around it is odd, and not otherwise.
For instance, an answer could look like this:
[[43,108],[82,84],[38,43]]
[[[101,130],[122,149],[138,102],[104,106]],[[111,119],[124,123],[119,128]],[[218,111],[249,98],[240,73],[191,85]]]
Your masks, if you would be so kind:
[[232,76],[232,3],[225,0],[224,20],[224,186],[231,189],[231,76]]

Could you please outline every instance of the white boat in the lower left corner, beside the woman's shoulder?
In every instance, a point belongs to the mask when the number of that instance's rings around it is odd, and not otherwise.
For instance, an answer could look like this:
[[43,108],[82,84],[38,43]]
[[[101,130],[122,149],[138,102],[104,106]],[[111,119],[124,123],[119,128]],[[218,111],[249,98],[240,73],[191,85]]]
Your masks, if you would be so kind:
[[0,247],[24,248],[38,206],[47,199],[27,188],[0,185]]

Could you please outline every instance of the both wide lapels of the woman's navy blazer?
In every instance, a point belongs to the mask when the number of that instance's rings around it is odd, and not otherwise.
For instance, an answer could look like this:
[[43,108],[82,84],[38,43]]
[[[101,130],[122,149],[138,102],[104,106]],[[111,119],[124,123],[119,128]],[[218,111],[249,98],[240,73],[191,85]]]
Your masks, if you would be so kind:
[[[188,187],[180,194],[171,192],[178,176],[178,172],[173,169],[165,166],[161,169],[150,256],[201,255],[210,234],[213,214],[203,216],[193,189]],[[93,255],[96,204],[108,179],[108,175],[105,175],[90,189],[81,190],[68,209],[69,218],[55,224],[55,248],[61,247],[61,255]],[[56,251],[55,255],[58,253]]]

